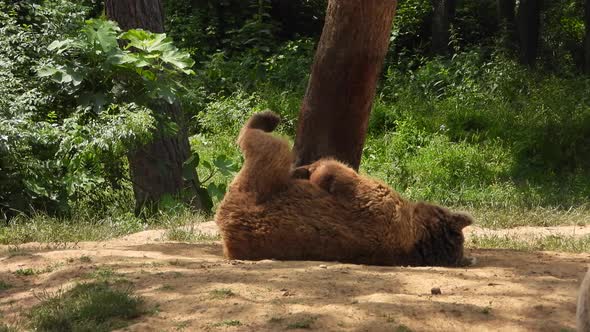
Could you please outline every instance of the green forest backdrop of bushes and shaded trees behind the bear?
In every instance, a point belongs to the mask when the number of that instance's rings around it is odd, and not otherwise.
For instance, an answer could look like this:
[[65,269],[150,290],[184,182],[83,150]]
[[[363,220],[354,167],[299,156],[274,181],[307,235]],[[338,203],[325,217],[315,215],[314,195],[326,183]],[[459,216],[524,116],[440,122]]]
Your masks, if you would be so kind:
[[[361,171],[452,206],[587,207],[588,3],[400,0]],[[293,137],[326,1],[162,9],[165,36],[124,32],[101,1],[0,1],[0,219],[214,210],[250,114]],[[154,172],[180,189],[134,195],[145,147],[178,137],[182,167]]]

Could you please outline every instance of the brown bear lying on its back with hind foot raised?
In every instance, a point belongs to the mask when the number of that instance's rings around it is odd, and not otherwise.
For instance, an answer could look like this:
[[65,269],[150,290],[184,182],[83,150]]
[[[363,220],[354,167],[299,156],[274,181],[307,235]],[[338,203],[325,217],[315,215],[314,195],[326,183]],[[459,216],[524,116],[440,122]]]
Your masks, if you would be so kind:
[[257,113],[239,134],[244,165],[215,216],[227,258],[465,264],[471,217],[404,200],[332,159],[292,170],[288,142],[270,134],[278,123]]

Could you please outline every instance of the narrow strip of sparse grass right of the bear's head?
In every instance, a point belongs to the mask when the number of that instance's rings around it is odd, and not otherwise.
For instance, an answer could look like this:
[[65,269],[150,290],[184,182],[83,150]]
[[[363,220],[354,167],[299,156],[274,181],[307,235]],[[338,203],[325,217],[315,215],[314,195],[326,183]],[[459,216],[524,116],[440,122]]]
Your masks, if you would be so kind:
[[476,235],[472,236],[466,245],[470,248],[482,249],[587,253],[590,252],[590,235],[581,238],[565,235],[550,235],[533,239],[519,239],[516,236],[508,235]]

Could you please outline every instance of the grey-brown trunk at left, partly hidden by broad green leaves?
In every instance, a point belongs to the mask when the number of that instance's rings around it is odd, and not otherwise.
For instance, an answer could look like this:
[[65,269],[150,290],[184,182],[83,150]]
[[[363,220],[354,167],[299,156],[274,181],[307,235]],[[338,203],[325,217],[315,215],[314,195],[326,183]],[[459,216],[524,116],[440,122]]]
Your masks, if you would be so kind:
[[[105,9],[109,19],[119,23],[123,30],[141,28],[164,32],[160,0],[106,0]],[[195,183],[183,178],[183,163],[190,155],[190,147],[180,105],[161,101],[150,106],[158,113],[159,122],[153,140],[128,156],[136,212],[144,206],[157,205],[164,195],[181,194],[194,208],[207,208],[196,194]],[[164,121],[173,121],[180,129],[176,133],[167,132]],[[192,193],[190,197],[187,191]]]

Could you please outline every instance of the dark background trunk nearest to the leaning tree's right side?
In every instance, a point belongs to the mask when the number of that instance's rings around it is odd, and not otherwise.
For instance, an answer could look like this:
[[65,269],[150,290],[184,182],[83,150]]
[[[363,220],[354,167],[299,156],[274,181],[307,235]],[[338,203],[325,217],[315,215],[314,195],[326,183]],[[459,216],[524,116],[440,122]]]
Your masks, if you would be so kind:
[[448,54],[455,0],[432,0],[432,53]]

